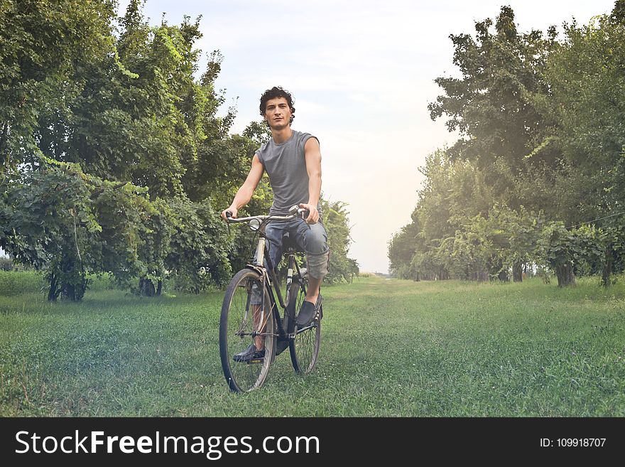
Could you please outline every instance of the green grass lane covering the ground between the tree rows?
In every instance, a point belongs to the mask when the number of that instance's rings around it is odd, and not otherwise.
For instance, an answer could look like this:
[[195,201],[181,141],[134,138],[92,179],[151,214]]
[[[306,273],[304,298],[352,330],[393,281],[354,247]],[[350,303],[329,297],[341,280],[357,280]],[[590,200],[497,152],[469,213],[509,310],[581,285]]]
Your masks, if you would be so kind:
[[295,375],[286,352],[237,395],[219,363],[221,293],[144,299],[102,279],[82,304],[47,304],[33,273],[6,274],[4,417],[625,415],[622,279],[325,287],[315,372]]

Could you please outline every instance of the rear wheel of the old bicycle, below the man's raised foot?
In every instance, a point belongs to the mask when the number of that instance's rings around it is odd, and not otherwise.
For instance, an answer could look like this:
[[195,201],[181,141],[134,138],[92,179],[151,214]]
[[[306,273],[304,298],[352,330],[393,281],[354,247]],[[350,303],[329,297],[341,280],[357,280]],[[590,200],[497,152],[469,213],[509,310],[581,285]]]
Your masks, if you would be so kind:
[[[304,280],[304,279],[300,279]],[[292,316],[298,313],[302,302],[305,299],[305,291],[299,282],[294,282],[291,288],[291,296],[289,306],[293,306]],[[321,343],[321,317],[323,316],[322,306],[320,306],[315,319],[309,326],[303,329],[297,329],[297,333],[289,340],[288,350],[290,352],[290,361],[293,363],[293,369],[300,374],[310,373],[317,365],[317,356],[319,355],[319,346]],[[294,330],[289,330],[293,332]]]

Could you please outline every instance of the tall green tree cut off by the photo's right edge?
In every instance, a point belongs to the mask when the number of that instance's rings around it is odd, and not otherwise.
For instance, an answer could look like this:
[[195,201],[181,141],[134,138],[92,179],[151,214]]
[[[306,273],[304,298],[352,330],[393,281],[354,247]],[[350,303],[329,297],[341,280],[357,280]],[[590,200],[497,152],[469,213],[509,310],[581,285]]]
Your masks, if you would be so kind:
[[548,60],[551,97],[543,107],[551,122],[545,144],[561,154],[561,170],[552,178],[558,186],[550,190],[559,205],[553,218],[575,225],[599,219],[591,226],[604,253],[592,270],[601,270],[604,285],[625,228],[624,11],[619,0],[611,15],[565,25],[565,41]]

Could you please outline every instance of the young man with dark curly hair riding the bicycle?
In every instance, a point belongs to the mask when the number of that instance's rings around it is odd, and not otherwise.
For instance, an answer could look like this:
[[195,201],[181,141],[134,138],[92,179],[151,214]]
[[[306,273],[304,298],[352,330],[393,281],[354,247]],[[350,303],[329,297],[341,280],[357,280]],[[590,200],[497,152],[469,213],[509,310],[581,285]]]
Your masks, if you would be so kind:
[[[271,129],[271,139],[254,154],[249,174],[232,204],[222,212],[222,218],[226,218],[228,211],[233,218],[237,218],[237,212],[249,203],[265,171],[273,189],[270,215],[289,215],[288,210],[293,205],[309,211],[305,220],[298,218],[289,222],[270,222],[265,230],[274,267],[281,260],[282,238],[286,232],[306,253],[308,291],[296,321],[301,328],[308,326],[315,318],[317,299],[320,298],[319,287],[327,274],[329,257],[327,232],[320,218],[321,151],[315,136],[291,129],[295,107],[293,97],[286,90],[281,87],[266,90],[261,96],[259,109]],[[235,360],[262,358],[264,352],[264,340],[257,336],[254,344],[236,355]]]

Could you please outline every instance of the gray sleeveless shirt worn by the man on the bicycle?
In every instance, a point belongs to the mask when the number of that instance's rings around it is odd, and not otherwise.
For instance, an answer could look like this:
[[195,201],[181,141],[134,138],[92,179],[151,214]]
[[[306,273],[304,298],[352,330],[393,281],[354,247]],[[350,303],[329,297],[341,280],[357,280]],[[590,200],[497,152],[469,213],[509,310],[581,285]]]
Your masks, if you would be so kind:
[[[311,134],[293,130],[290,138],[283,143],[276,144],[271,138],[256,151],[273,189],[270,215],[288,215],[291,206],[308,203],[308,171],[304,145],[310,138],[317,139]],[[321,210],[320,208],[317,203],[317,210]]]

